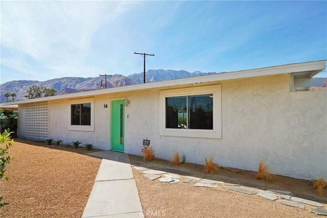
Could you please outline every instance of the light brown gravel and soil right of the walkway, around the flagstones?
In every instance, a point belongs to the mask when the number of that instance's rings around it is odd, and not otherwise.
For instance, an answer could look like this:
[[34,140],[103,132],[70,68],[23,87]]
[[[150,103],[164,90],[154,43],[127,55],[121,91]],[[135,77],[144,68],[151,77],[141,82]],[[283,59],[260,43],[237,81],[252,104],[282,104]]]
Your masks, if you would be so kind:
[[[184,163],[176,166],[173,162],[154,159],[144,162],[143,157],[130,155],[132,164],[153,169],[171,168],[186,172],[186,176],[213,179],[260,189],[287,190],[297,197],[305,197],[320,203],[327,203],[327,197],[319,197],[313,182],[277,176],[274,182],[255,180],[256,172],[233,172],[219,168],[215,175],[204,173],[202,165]],[[133,169],[139,197],[146,217],[317,217],[305,209],[282,205],[259,197],[222,188],[194,187],[189,183],[162,183],[151,181],[141,170]],[[323,204],[327,208],[327,204]]]

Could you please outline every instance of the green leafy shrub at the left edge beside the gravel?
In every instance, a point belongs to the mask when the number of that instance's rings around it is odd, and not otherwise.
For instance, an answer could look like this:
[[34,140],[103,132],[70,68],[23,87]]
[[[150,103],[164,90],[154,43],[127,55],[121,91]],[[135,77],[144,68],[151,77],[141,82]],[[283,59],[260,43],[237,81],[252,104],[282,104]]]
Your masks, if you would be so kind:
[[[8,141],[8,144],[6,144],[6,148],[0,147],[0,179],[2,179],[5,175],[7,164],[9,164],[10,160],[12,160],[12,157],[6,155],[8,153],[8,149],[10,146],[13,145],[14,140],[10,139],[10,128],[8,130],[5,129],[4,133],[0,135],[0,144]],[[8,177],[5,177],[5,180],[8,181]],[[8,203],[2,203],[3,197],[0,197],[0,208],[7,205]]]

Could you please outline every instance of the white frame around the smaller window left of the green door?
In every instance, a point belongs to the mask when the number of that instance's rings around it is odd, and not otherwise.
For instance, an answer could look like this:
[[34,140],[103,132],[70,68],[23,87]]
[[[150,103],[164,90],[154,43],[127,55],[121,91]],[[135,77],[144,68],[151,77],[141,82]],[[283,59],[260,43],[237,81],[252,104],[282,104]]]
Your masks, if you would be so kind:
[[[72,119],[72,104],[85,104],[91,103],[91,123],[90,125],[71,125]],[[74,99],[68,100],[68,130],[76,130],[76,131],[89,131],[94,132],[94,98],[83,98],[83,99]]]

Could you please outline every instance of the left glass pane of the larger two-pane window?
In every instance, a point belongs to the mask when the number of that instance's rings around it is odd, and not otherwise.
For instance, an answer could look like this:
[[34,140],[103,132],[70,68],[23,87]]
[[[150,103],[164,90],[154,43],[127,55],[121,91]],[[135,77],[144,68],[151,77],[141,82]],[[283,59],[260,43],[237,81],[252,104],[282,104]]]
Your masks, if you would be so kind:
[[188,128],[186,96],[166,98],[166,128]]

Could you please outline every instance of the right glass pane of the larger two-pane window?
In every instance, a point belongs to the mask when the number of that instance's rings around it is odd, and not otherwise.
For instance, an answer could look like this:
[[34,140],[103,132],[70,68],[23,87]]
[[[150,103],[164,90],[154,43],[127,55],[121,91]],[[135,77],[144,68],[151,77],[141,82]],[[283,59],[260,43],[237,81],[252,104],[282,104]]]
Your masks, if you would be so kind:
[[213,94],[189,98],[189,128],[213,129]]

